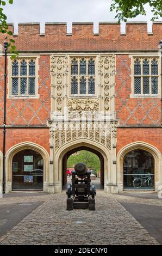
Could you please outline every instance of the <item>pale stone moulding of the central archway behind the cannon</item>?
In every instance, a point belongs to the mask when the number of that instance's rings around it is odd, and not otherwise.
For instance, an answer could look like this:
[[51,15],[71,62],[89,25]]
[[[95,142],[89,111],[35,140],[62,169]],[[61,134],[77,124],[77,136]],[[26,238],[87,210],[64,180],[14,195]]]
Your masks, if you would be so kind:
[[77,139],[73,142],[68,142],[62,147],[60,147],[57,152],[55,153],[54,157],[54,180],[55,180],[55,193],[59,193],[62,190],[62,185],[64,183],[63,180],[63,160],[66,161],[65,156],[68,154],[72,154],[72,152],[78,151],[78,149],[86,149],[91,152],[94,152],[96,155],[100,156],[102,159],[102,169],[103,169],[103,177],[104,180],[102,181],[102,184],[107,184],[108,180],[111,180],[111,174],[109,172],[110,170],[110,152],[107,148],[105,148],[100,143],[97,143],[95,141],[90,141],[89,139]]

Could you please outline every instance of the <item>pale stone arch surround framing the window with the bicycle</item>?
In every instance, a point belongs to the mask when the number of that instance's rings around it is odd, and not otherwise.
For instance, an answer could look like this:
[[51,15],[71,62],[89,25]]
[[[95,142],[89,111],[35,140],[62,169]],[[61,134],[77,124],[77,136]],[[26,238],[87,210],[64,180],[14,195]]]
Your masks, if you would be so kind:
[[160,151],[153,145],[146,142],[138,141],[127,144],[117,154],[117,185],[119,192],[123,191],[123,160],[124,156],[132,150],[145,150],[153,156],[154,159],[154,177],[155,177],[155,191],[158,190],[159,185],[162,184],[162,156]]

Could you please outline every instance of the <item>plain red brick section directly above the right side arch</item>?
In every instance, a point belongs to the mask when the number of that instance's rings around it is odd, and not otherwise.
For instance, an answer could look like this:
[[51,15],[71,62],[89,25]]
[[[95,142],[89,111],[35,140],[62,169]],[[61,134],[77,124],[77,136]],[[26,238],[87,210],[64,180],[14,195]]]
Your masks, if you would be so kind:
[[117,153],[125,145],[136,141],[154,145],[162,154],[161,128],[117,128]]

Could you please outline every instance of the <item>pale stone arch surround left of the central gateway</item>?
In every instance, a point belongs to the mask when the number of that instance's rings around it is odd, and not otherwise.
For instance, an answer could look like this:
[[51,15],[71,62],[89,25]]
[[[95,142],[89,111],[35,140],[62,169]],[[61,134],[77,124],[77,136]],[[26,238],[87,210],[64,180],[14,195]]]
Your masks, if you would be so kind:
[[49,170],[49,154],[46,149],[33,142],[22,142],[11,147],[6,154],[6,193],[12,190],[12,162],[13,157],[19,151],[30,149],[38,152],[43,158],[43,191],[47,192],[48,186],[48,170]]

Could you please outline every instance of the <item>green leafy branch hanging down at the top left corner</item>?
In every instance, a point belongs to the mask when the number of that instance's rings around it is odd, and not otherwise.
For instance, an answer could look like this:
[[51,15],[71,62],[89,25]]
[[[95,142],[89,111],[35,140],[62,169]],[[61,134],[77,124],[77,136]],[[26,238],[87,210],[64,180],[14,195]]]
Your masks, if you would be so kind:
[[9,30],[8,24],[7,24],[7,16],[4,14],[3,6],[6,5],[7,3],[13,4],[13,0],[5,0],[2,1],[0,0],[0,33],[5,35],[5,40],[9,41],[8,42],[8,48],[9,52],[12,53],[11,58],[15,58],[18,53],[16,51],[16,46],[14,45],[15,40],[12,38],[13,32]]

